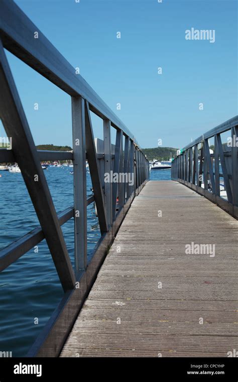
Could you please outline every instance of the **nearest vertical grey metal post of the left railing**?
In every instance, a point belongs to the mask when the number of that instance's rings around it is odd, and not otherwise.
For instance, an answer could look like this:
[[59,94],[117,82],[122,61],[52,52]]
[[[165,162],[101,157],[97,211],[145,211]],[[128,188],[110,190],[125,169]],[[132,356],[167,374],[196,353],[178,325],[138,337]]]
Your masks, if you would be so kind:
[[87,194],[84,100],[72,97],[75,273],[87,266]]

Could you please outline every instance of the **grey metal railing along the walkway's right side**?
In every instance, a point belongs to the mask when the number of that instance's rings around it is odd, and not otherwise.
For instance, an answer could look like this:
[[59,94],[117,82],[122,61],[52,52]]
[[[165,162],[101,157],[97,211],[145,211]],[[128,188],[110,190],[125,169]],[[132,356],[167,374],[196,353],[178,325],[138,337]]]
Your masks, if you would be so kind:
[[[221,134],[229,132],[222,143]],[[238,116],[198,137],[172,162],[171,177],[238,218]],[[214,147],[209,145],[214,139]],[[222,180],[223,179],[223,180]]]

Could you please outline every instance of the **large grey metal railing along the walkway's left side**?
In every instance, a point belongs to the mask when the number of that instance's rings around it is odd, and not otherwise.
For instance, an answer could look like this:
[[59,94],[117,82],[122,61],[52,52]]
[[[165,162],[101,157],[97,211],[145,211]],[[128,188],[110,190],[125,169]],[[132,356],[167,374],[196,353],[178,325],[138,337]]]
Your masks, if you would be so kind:
[[[39,228],[0,251],[0,270],[46,239],[65,294],[28,355],[57,356],[118,227],[149,178],[149,162],[133,134],[12,0],[0,2],[0,39],[0,117],[12,138],[12,150],[0,150],[0,163],[18,163],[40,222]],[[4,48],[71,96],[73,153],[36,149]],[[103,120],[100,152],[95,146],[90,112]],[[116,129],[115,145],[111,144],[111,127]],[[41,161],[68,159],[74,165],[74,206],[57,215]],[[93,187],[90,197],[86,196],[86,159]],[[135,182],[105,182],[103,174],[110,171],[133,174]],[[87,263],[87,206],[93,202],[101,237]],[[74,270],[60,227],[71,218]],[[78,282],[80,288],[75,287]]]

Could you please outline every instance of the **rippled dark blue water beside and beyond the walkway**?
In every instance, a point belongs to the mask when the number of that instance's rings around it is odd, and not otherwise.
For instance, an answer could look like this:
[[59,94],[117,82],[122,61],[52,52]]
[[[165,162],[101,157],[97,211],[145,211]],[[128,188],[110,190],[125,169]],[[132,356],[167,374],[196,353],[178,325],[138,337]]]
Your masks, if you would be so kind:
[[[49,167],[45,175],[57,212],[73,205],[70,167]],[[39,226],[21,173],[0,171],[0,249]],[[151,180],[170,180],[170,169],[152,170]],[[87,172],[87,194],[91,194]],[[73,265],[73,219],[62,226]],[[88,206],[88,259],[100,237],[94,203]],[[49,249],[44,241],[0,273],[0,351],[24,356],[63,296]],[[38,324],[36,324],[37,320]]]

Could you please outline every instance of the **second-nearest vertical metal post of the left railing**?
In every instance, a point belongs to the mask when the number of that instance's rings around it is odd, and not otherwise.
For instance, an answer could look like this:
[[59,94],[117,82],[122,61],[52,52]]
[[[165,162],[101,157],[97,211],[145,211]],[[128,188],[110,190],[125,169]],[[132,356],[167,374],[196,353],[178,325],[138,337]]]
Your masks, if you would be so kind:
[[[110,121],[103,120],[103,141],[104,141],[104,174],[111,171],[111,134]],[[105,182],[105,210],[107,228],[112,225],[112,183]]]

